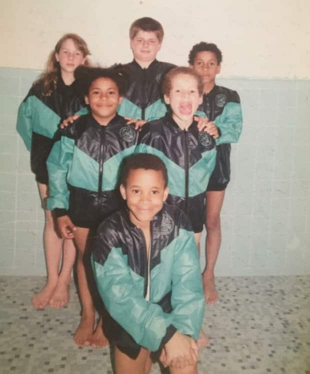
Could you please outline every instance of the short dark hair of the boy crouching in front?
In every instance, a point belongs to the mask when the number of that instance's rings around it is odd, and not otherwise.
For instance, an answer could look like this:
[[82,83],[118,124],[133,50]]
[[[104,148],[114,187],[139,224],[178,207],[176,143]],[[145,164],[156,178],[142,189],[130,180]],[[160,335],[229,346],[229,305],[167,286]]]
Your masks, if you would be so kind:
[[168,173],[165,164],[159,157],[149,153],[137,153],[127,157],[123,161],[119,180],[120,184],[126,186],[130,171],[136,169],[161,171],[164,187],[167,187]]

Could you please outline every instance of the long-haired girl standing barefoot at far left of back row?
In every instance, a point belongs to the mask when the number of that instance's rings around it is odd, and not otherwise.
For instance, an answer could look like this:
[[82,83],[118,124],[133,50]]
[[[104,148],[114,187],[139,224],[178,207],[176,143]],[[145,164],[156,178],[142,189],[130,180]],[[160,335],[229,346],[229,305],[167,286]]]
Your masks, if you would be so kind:
[[[31,152],[31,170],[35,174],[45,213],[43,237],[47,282],[43,289],[32,297],[35,309],[44,308],[47,304],[61,307],[69,299],[68,286],[75,247],[72,240],[63,240],[57,235],[54,229],[54,216],[46,209],[46,159],[60,119],[76,112],[81,113],[85,106],[76,90],[73,73],[77,66],[89,64],[88,55],[87,45],[82,38],[75,34],[64,35],[49,57],[46,71],[34,82],[18,110],[17,131]],[[58,273],[61,249],[62,266]]]

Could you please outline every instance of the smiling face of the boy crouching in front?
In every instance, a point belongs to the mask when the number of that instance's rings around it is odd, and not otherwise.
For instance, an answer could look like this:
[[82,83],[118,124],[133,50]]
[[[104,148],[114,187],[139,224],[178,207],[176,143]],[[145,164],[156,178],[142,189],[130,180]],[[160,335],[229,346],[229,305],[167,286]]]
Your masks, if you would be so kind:
[[160,170],[133,169],[120,193],[127,202],[130,221],[139,228],[147,228],[168,196],[168,187]]

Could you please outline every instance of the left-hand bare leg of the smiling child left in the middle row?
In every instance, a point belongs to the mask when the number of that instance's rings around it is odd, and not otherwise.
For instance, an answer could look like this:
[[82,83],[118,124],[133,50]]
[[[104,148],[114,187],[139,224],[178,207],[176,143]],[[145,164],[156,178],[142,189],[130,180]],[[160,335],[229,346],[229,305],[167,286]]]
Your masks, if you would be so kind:
[[74,240],[77,246],[76,273],[79,297],[82,307],[81,321],[75,330],[74,341],[77,345],[85,346],[91,343],[93,327],[95,322],[95,311],[88,287],[85,271],[84,254],[86,249],[88,228],[76,227]]

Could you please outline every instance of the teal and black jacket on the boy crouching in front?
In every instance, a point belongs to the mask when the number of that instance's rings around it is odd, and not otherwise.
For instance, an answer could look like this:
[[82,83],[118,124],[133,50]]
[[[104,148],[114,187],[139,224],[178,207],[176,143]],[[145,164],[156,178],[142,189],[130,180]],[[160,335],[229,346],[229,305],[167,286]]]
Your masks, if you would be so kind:
[[144,235],[125,208],[100,224],[92,251],[97,288],[112,317],[104,323],[107,335],[132,358],[140,346],[157,350],[176,330],[197,339],[203,317],[200,265],[188,219],[164,204],[150,232],[149,266]]

